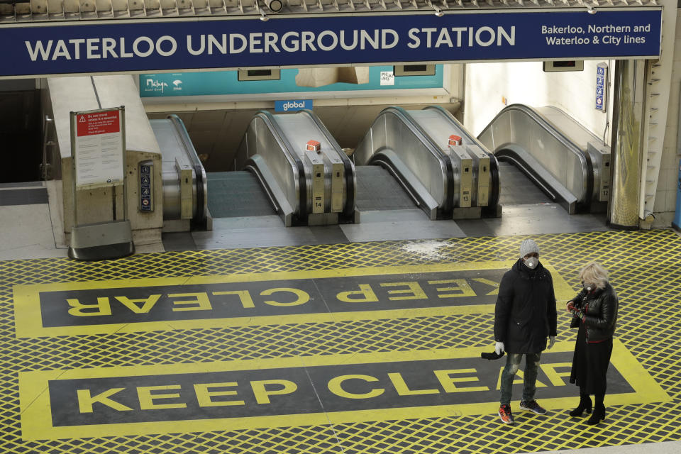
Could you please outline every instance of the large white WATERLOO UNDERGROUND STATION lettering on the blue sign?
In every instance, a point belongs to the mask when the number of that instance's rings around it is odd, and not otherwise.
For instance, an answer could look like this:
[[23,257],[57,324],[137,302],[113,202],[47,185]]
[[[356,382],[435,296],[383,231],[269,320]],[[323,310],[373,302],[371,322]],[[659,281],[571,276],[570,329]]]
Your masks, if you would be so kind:
[[189,55],[234,55],[242,52],[323,52],[334,50],[387,50],[397,47],[402,40],[416,48],[474,48],[492,45],[515,45],[516,27],[458,26],[410,28],[401,36],[392,28],[372,30],[222,33],[187,35],[183,40],[172,35],[159,38],[73,38],[26,40],[31,61],[100,60],[157,55],[170,57],[182,46]]

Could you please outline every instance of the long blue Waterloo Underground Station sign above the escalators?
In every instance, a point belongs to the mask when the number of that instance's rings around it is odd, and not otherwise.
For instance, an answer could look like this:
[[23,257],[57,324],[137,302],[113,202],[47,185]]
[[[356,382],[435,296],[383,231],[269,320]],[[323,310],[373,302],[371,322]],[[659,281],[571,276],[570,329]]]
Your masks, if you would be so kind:
[[0,76],[659,57],[662,10],[433,13],[3,26]]

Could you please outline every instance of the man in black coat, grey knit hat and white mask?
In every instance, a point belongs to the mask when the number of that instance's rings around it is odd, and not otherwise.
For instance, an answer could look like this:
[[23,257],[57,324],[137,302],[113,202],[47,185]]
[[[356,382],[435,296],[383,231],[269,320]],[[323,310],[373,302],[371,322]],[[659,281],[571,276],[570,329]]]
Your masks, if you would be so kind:
[[541,352],[553,347],[556,336],[555,294],[551,274],[539,262],[539,247],[531,239],[520,245],[520,258],[499,284],[494,309],[494,350],[508,353],[502,372],[502,398],[499,417],[514,423],[511,413],[511,387],[523,355],[525,373],[521,410],[546,414],[534,399]]

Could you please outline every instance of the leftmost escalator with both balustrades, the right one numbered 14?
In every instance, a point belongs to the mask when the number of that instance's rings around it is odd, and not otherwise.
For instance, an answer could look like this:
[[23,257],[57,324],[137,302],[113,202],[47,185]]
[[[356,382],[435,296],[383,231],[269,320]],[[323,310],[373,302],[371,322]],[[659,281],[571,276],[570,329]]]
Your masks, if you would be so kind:
[[309,111],[258,112],[243,135],[233,172],[204,171],[179,117],[150,123],[162,153],[164,231],[200,228],[206,216],[277,214],[285,226],[353,221],[352,162]]

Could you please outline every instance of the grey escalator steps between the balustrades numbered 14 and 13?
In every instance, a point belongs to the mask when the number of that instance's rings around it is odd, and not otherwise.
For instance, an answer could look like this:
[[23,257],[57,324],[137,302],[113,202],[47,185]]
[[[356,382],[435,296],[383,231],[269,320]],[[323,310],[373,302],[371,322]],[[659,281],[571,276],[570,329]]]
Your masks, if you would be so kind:
[[396,179],[378,165],[358,165],[357,208],[360,211],[413,209],[414,201]]

